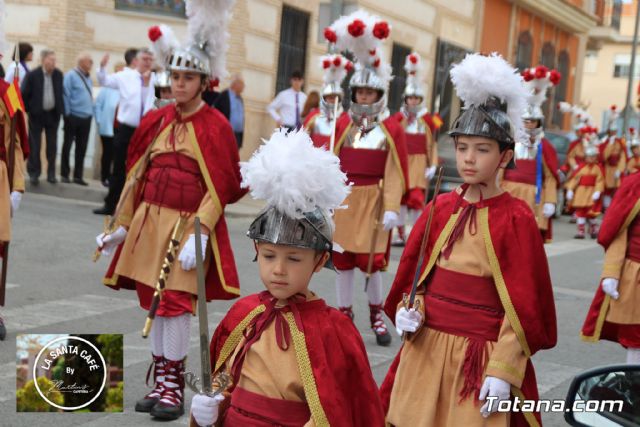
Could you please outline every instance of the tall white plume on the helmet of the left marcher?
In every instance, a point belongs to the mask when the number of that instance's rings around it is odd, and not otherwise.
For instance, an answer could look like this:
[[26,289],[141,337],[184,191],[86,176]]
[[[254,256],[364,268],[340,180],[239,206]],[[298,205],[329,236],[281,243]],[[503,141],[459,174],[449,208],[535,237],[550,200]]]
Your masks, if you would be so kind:
[[231,10],[235,0],[187,0],[188,45],[206,42],[211,61],[211,75],[220,80],[227,77],[227,48]]

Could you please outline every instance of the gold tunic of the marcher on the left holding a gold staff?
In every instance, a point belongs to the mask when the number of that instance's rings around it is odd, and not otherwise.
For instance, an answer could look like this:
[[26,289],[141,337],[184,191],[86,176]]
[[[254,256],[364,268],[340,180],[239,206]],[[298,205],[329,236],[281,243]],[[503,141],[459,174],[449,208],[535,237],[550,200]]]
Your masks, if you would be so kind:
[[[161,154],[173,152],[169,143],[169,136],[174,124],[167,126],[153,142],[148,153],[150,159]],[[194,144],[197,144],[197,141],[191,140],[189,134],[194,135],[194,133],[188,130],[191,128],[193,131],[193,125],[187,122],[185,126],[186,128],[182,127],[181,131],[177,132],[176,152],[195,159]],[[144,162],[145,159],[141,161]],[[140,173],[138,176],[142,175],[143,173]],[[178,222],[180,212],[145,201],[142,201],[134,211],[134,198],[138,194],[141,184],[141,181],[135,182],[132,176],[127,182],[127,186],[134,185],[135,187],[132,191],[129,191],[126,198],[124,198],[125,192],[123,191],[123,199],[120,200],[123,207],[118,216],[118,223],[128,228],[128,234],[122,248],[122,254],[116,265],[116,274],[136,280],[147,286],[155,287],[169,245],[169,239],[175,224]],[[209,193],[206,193],[197,212],[188,214],[178,254],[180,254],[189,236],[194,233],[194,218],[196,215],[200,217],[203,226],[213,230],[222,212],[218,212]],[[211,250],[207,247],[204,260],[205,271],[209,267],[211,257]],[[180,262],[176,259],[165,287],[169,290],[185,291],[197,295],[196,269],[184,271],[180,266]]]

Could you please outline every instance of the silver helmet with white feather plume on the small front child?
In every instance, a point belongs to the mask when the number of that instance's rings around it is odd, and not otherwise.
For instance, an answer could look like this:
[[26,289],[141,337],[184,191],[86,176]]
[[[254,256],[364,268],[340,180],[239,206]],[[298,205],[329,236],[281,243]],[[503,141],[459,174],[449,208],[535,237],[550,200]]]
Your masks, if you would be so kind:
[[241,163],[240,172],[242,186],[266,201],[249,226],[249,238],[318,252],[334,249],[331,213],[350,191],[335,154],[314,147],[304,130],[279,129]]

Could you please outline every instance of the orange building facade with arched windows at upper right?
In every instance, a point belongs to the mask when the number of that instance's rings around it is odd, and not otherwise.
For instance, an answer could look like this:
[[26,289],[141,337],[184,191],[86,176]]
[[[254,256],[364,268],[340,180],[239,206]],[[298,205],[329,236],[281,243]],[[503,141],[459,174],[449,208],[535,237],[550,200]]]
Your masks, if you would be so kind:
[[543,64],[562,81],[543,105],[546,126],[567,129],[559,101],[580,100],[589,31],[597,23],[595,2],[581,0],[484,0],[482,52],[499,52],[518,69]]

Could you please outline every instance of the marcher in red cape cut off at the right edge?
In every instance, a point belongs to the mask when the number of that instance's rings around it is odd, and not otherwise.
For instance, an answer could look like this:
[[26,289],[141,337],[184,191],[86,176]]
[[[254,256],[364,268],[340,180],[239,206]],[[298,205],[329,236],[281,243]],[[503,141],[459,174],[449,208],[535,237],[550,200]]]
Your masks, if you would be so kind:
[[598,243],[605,249],[604,266],[582,339],[617,342],[627,349],[627,363],[640,364],[640,174],[622,182]]

